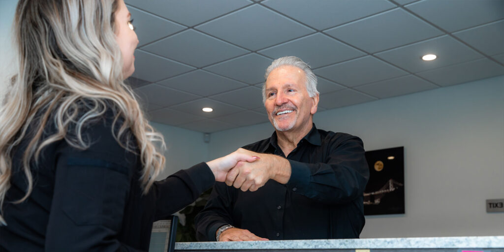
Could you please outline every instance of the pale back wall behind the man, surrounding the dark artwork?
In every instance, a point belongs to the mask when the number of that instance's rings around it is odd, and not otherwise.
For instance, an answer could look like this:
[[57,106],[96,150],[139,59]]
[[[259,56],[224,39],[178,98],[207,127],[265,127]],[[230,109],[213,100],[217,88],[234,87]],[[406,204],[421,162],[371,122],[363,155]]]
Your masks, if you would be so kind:
[[[259,98],[258,98],[259,99]],[[317,127],[368,150],[404,146],[406,214],[366,216],[362,238],[504,235],[504,76],[326,110]],[[263,123],[212,134],[209,158],[269,137]]]

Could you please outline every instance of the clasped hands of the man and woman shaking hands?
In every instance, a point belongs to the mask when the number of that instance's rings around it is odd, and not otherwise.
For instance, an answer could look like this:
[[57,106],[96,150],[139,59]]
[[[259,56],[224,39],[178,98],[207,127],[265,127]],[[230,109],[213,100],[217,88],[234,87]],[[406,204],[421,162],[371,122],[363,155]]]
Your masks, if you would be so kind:
[[226,182],[241,191],[257,191],[269,179],[287,183],[291,174],[290,163],[277,155],[257,153],[245,149],[207,162],[215,180]]

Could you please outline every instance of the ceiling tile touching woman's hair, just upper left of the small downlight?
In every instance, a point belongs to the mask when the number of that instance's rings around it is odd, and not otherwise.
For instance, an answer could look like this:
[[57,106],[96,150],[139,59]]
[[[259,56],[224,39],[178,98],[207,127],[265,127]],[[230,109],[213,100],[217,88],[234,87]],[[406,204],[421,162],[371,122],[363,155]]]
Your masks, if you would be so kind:
[[148,102],[161,107],[200,98],[200,96],[180,92],[155,83],[137,88],[135,89],[135,93],[144,103]]

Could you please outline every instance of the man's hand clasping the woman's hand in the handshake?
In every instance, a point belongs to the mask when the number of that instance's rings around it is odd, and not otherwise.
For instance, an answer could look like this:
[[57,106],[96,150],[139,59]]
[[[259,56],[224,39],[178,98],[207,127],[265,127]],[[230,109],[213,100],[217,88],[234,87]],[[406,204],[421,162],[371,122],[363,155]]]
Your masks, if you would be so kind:
[[274,179],[279,183],[287,183],[291,174],[290,163],[287,159],[272,155],[256,153],[245,149],[238,149],[236,152],[248,156],[257,156],[260,160],[253,163],[238,162],[226,176],[226,184],[240,188],[241,191],[257,191],[269,179]]

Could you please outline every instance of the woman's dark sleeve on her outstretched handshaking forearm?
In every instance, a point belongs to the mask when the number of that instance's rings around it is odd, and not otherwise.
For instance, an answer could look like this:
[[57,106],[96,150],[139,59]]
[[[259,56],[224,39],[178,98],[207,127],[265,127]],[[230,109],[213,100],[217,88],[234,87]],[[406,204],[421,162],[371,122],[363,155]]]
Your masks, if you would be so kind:
[[215,177],[206,163],[180,170],[167,178],[156,181],[153,192],[156,199],[155,220],[164,219],[193,203],[215,182]]

